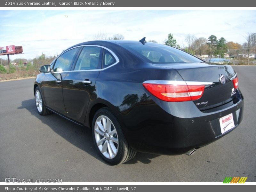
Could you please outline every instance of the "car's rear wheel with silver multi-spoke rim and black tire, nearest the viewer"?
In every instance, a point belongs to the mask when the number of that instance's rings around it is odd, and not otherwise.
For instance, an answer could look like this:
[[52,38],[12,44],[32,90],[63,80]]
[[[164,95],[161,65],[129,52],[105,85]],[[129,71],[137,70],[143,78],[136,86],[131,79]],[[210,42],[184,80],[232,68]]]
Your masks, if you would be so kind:
[[100,156],[108,164],[122,164],[136,155],[127,143],[120,123],[108,108],[101,108],[95,113],[92,138]]

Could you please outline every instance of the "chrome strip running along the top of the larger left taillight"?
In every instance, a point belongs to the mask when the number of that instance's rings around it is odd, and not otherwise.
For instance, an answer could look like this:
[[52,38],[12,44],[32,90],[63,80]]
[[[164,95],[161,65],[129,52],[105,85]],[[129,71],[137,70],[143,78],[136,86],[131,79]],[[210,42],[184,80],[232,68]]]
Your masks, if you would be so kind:
[[169,80],[150,80],[143,83],[149,84],[169,84],[169,85],[211,85],[213,82],[205,81],[169,81]]

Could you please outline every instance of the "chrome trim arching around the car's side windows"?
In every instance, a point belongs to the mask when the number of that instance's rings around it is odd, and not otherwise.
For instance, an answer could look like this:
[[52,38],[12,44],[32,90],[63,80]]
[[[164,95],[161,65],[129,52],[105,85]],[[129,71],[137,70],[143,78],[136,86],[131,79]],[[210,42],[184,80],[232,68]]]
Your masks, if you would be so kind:
[[[60,53],[60,55],[59,55],[58,57],[56,57],[52,62],[55,62],[55,60],[57,60],[63,53],[65,53],[65,52],[67,52],[67,51],[69,51],[69,50],[71,50],[71,49],[74,49],[74,48],[77,48],[77,47],[87,47],[87,46],[91,46],[91,47],[100,47],[100,48],[102,48],[102,49],[108,50],[108,51],[114,56],[114,58],[116,59],[116,62],[113,63],[112,65],[106,67],[106,68],[103,68],[103,69],[71,70],[71,71],[60,71],[60,72],[53,72],[53,73],[76,72],[76,71],[102,71],[102,70],[105,70],[105,69],[107,69],[107,68],[110,68],[110,67],[116,65],[117,63],[119,63],[119,59],[118,59],[118,57],[116,56],[116,54],[115,54],[113,51],[111,51],[110,49],[108,49],[107,47],[104,47],[104,46],[101,46],[101,45],[79,45],[79,46],[76,46],[76,47],[72,47],[72,48],[70,48],[70,49],[68,49],[68,50],[66,50],[66,51],[64,51],[64,52],[62,52],[62,53]],[[103,59],[103,58],[102,58],[102,59]]]

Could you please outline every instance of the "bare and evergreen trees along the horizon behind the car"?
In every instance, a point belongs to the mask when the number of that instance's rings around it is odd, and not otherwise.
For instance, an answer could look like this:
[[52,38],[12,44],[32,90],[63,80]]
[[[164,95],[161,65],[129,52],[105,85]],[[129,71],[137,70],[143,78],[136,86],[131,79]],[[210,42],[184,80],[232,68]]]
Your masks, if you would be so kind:
[[[98,32],[93,36],[94,40],[123,40],[124,35],[122,34],[114,34],[112,36],[108,36],[107,33]],[[180,46],[173,36],[172,33],[169,33],[167,39],[162,42],[162,44],[176,47],[182,49],[192,55],[195,56],[206,56],[209,58],[219,57],[223,58],[225,54],[231,55],[233,57],[237,57],[240,54],[246,54],[247,57],[249,54],[256,54],[256,33],[247,33],[244,36],[245,42],[244,44],[234,43],[233,41],[227,42],[224,37],[220,37],[219,39],[215,35],[211,35],[206,39],[205,37],[197,38],[195,35],[188,34],[185,36],[185,42],[187,45]],[[149,40],[148,42],[158,43],[155,40]],[[12,63],[16,63],[16,66],[20,68],[20,70],[38,70],[38,68],[42,65],[49,64],[56,56],[46,57],[43,53],[40,56],[36,56],[34,59],[14,59]],[[249,64],[249,57],[247,60]],[[27,63],[24,67],[24,63]],[[8,66],[8,61],[6,59],[0,58],[1,66]],[[4,69],[1,67],[0,73],[12,73],[16,69],[13,68],[13,65],[10,65],[9,71],[8,69]]]

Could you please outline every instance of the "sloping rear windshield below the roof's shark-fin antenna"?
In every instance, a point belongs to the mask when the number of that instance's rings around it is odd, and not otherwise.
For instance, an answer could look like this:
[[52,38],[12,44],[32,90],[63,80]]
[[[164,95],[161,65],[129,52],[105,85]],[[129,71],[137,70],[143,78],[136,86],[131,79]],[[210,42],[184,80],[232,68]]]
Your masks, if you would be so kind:
[[179,49],[156,43],[123,44],[129,51],[151,63],[190,63],[203,62]]

